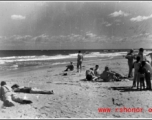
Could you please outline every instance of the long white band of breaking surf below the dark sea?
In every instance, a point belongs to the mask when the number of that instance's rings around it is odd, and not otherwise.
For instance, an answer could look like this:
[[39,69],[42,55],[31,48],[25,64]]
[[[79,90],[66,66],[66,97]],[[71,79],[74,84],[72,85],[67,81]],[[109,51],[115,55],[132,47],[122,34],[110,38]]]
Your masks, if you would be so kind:
[[[116,53],[100,53],[100,52],[90,52],[84,54],[84,57],[114,57],[126,54],[126,52],[116,52]],[[12,56],[12,57],[0,57],[0,64],[12,63],[12,62],[26,62],[26,61],[48,61],[48,60],[61,60],[61,59],[72,59],[77,58],[77,53],[69,55],[54,55],[54,56]]]

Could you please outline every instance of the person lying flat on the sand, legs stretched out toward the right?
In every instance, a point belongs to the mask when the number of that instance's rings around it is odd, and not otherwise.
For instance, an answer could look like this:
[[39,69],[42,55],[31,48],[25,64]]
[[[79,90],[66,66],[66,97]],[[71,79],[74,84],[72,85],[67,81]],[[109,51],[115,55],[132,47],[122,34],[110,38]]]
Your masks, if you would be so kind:
[[53,90],[47,91],[47,90],[41,90],[32,87],[19,86],[17,84],[12,85],[11,88],[14,92],[34,93],[34,94],[53,94]]

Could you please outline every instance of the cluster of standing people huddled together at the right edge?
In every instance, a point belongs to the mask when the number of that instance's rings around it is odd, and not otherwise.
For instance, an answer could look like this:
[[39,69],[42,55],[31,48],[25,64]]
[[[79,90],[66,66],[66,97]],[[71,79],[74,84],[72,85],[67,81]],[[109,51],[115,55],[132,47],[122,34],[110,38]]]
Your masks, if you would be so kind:
[[[151,89],[152,66],[146,58],[146,56],[148,55],[150,55],[152,58],[152,53],[145,55],[144,49],[140,48],[138,54],[135,55],[134,51],[130,50],[130,52],[126,56],[124,56],[126,59],[128,59],[128,78],[133,77],[132,88],[137,87],[137,89]],[[134,59],[136,60],[135,62]],[[132,74],[133,69],[134,76]]]

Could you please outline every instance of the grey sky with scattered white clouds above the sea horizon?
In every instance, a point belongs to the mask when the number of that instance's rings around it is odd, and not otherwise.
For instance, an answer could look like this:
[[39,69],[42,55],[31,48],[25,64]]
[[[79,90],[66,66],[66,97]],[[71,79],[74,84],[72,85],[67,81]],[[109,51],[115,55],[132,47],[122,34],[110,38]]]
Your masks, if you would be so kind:
[[0,50],[152,46],[152,2],[0,2]]

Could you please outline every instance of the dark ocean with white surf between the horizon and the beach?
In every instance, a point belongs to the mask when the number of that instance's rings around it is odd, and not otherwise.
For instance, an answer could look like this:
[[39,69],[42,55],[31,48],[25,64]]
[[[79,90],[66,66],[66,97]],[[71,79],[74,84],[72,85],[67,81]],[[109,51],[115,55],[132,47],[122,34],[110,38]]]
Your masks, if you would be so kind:
[[[128,50],[81,50],[84,61],[113,59],[126,55]],[[149,50],[146,53],[150,52]],[[1,50],[0,71],[19,70],[26,67],[42,67],[76,63],[78,50]]]

